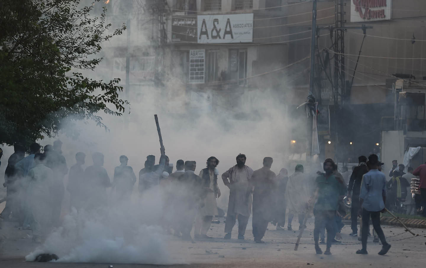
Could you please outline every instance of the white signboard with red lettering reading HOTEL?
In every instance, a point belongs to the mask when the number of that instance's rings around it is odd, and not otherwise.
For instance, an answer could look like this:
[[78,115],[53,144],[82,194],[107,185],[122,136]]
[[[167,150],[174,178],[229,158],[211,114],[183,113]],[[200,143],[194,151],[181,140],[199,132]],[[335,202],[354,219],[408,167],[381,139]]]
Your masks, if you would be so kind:
[[351,0],[351,22],[390,20],[392,0]]

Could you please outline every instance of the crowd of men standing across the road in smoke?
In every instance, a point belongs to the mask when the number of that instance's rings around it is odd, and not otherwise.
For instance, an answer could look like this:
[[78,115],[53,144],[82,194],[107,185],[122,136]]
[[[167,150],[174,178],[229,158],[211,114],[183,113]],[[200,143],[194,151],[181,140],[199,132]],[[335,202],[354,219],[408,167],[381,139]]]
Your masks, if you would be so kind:
[[[62,143],[57,140],[53,145],[46,145],[40,153],[40,145],[34,143],[30,152],[25,156],[25,148],[14,146],[14,154],[9,157],[5,172],[7,187],[6,208],[0,214],[5,220],[14,218],[22,226],[33,231],[35,242],[41,242],[42,236],[49,228],[60,225],[60,213],[65,194],[64,176],[68,174],[66,190],[70,194],[70,208],[90,211],[107,203],[106,189],[111,187],[118,200],[130,197],[137,178],[132,167],[127,165],[125,155],[119,157],[120,165],[114,169],[111,182],[107,170],[103,167],[104,155],[92,154],[93,165],[83,169],[86,155],[78,152],[76,163],[69,170],[61,151]],[[1,152],[0,152],[1,153]],[[170,165],[169,158],[161,153],[158,164],[155,156],[148,155],[144,168],[139,171],[138,191],[144,194],[150,189],[161,188],[164,195],[161,222],[165,230],[184,240],[194,238],[209,239],[207,236],[214,216],[219,214],[216,198],[221,196],[218,186],[219,171],[216,157],[209,157],[206,168],[199,175],[195,174],[196,162],[178,160],[176,171]],[[238,239],[245,238],[248,219],[253,210],[254,242],[264,243],[262,238],[272,222],[277,230],[285,227],[286,210],[288,209],[288,230],[293,230],[293,217],[299,221],[299,230],[304,229],[306,219],[314,214],[314,242],[317,254],[322,254],[320,244],[326,243],[324,254],[331,254],[331,244],[339,242],[340,230],[343,227],[342,217],[346,214],[344,197],[351,198],[352,233],[357,236],[358,216],[362,217],[361,241],[363,248],[357,254],[367,254],[366,244],[371,218],[375,239],[380,239],[383,245],[379,254],[386,254],[390,245],[386,242],[380,228],[380,213],[386,207],[393,208],[405,202],[407,189],[417,190],[420,196],[425,194],[426,164],[414,172],[408,169],[411,177],[402,174],[404,168],[398,170],[395,162],[389,176],[381,172],[377,155],[359,157],[359,165],[353,169],[347,183],[342,174],[337,171],[337,165],[331,159],[323,163],[323,171],[317,172],[317,177],[306,175],[302,165],[296,165],[294,173],[288,176],[288,171],[282,168],[278,176],[271,171],[273,159],[265,157],[263,167],[253,171],[246,165],[246,156],[239,154],[236,165],[222,174],[222,180],[230,189],[225,223],[225,239],[231,238],[231,233],[238,220]],[[420,175],[416,179],[415,175]],[[405,177],[404,177],[405,176]],[[410,179],[412,183],[405,183]],[[417,183],[418,180],[418,183]],[[417,183],[417,184],[416,184]],[[414,189],[418,185],[418,189]],[[413,188],[414,187],[414,188]],[[405,193],[405,194],[404,194]],[[416,198],[414,197],[414,200]],[[418,199],[418,198],[417,198]],[[423,202],[424,199],[419,199]],[[414,209],[414,205],[413,205]],[[325,230],[327,239],[325,242]]]

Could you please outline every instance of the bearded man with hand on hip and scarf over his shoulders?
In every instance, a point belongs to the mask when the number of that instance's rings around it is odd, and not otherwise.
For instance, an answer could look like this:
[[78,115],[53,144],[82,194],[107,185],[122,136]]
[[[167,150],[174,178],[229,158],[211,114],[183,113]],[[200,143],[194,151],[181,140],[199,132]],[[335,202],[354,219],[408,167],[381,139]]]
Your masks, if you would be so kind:
[[222,180],[230,189],[228,211],[225,224],[225,239],[231,238],[232,228],[238,218],[238,239],[244,239],[245,228],[251,214],[251,201],[253,189],[250,179],[253,169],[245,165],[246,157],[239,154],[237,164],[222,174]]

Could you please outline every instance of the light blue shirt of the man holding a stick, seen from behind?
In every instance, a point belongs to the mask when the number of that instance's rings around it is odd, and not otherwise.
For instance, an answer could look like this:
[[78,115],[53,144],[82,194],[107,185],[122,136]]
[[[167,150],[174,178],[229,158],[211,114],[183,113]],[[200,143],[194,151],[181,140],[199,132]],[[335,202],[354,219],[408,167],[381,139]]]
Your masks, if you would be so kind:
[[386,195],[386,176],[377,169],[372,169],[364,174],[361,185],[360,198],[363,208],[368,211],[381,211],[385,204],[383,195]]

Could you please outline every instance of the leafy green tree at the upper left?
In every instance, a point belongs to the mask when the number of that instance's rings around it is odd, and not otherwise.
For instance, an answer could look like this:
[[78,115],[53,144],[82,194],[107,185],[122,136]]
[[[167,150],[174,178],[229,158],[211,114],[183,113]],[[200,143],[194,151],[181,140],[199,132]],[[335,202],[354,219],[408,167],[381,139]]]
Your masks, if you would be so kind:
[[98,112],[122,115],[120,80],[82,74],[101,62],[101,44],[126,29],[109,29],[106,8],[91,16],[99,1],[0,2],[0,144],[53,137],[64,120],[94,120],[107,129]]

